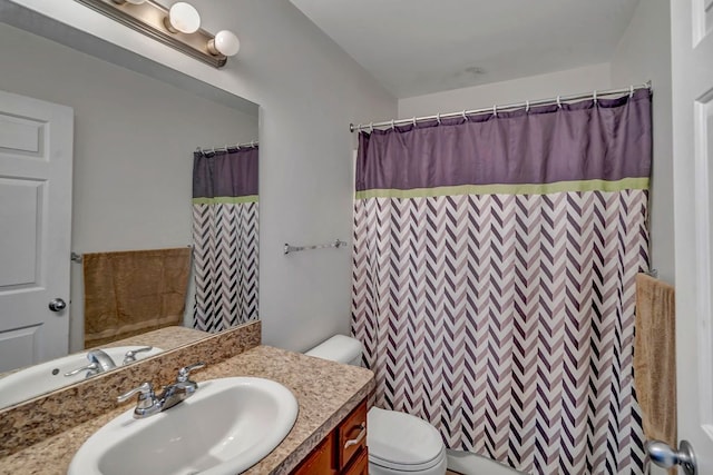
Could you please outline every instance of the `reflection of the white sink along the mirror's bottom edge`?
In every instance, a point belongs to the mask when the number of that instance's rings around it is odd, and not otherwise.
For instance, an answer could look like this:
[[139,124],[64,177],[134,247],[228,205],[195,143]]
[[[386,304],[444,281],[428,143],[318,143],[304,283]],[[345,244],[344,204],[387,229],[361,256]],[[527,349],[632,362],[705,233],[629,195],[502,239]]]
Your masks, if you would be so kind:
[[[120,367],[126,352],[137,348],[141,348],[141,346],[116,346],[101,349],[114,359],[117,367]],[[147,358],[160,352],[160,348],[153,348],[148,352],[137,353],[136,359]],[[80,372],[74,376],[65,376],[65,373],[88,364],[87,352],[76,353],[30,366],[0,378],[0,408],[85,380],[87,372]]]

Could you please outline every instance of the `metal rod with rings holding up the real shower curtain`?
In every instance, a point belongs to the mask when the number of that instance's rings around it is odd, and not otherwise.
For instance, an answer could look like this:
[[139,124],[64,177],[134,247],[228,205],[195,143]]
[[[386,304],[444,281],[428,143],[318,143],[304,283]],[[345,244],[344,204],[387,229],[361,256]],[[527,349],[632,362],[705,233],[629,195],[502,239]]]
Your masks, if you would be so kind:
[[592,92],[584,92],[584,93],[570,95],[570,96],[557,96],[548,99],[527,100],[525,102],[496,105],[496,106],[484,108],[484,109],[461,110],[459,112],[448,112],[448,113],[437,113],[434,116],[412,117],[411,119],[392,119],[392,120],[384,120],[381,122],[359,123],[358,126],[350,123],[349,131],[350,132],[358,132],[361,130],[371,131],[377,127],[387,127],[391,129],[394,126],[403,126],[407,123],[416,125],[417,122],[423,121],[423,120],[438,120],[440,122],[441,119],[451,119],[455,117],[465,118],[467,116],[472,116],[476,113],[485,113],[485,112],[492,112],[497,115],[498,110],[512,110],[512,109],[520,109],[520,108],[525,108],[525,110],[529,110],[530,107],[533,106],[561,103],[565,101],[582,100],[582,99],[594,99],[596,101],[598,97],[616,96],[616,95],[623,95],[623,93],[634,95],[634,91],[636,90],[651,89],[651,87],[652,85],[649,80],[649,81],[646,81],[646,83],[644,85],[629,86],[628,88],[608,89],[608,90],[602,90],[602,91],[594,90]]

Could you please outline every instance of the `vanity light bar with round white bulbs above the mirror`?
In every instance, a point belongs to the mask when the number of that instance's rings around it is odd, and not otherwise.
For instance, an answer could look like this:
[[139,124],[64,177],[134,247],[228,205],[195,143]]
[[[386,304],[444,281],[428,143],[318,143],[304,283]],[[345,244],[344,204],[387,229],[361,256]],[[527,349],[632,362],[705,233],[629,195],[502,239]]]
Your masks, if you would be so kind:
[[154,0],[75,1],[215,68],[225,66],[240,50],[235,33],[222,30],[214,36],[201,29],[201,14],[185,1],[170,8]]

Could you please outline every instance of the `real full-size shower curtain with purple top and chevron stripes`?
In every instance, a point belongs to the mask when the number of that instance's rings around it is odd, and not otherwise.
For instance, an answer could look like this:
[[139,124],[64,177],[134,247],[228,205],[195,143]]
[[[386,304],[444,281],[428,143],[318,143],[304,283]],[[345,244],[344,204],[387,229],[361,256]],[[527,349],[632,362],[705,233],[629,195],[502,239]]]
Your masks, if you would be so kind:
[[642,474],[651,92],[360,135],[352,331],[377,405],[534,474]]

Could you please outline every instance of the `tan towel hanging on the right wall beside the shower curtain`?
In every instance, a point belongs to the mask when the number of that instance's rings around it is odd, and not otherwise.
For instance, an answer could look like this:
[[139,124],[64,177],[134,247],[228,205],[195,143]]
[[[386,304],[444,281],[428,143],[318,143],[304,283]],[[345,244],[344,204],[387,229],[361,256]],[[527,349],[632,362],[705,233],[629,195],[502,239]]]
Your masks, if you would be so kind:
[[674,288],[636,276],[634,387],[647,439],[676,443],[676,301]]

